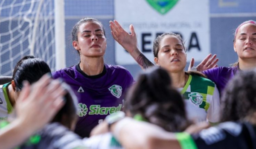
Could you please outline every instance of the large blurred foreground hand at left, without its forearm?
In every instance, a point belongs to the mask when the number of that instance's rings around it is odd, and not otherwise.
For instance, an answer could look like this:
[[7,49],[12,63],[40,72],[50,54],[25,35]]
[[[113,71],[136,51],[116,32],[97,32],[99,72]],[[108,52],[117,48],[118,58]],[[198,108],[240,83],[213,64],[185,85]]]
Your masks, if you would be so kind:
[[17,119],[36,131],[48,123],[64,105],[67,91],[60,81],[44,75],[32,86],[25,83],[15,106]]

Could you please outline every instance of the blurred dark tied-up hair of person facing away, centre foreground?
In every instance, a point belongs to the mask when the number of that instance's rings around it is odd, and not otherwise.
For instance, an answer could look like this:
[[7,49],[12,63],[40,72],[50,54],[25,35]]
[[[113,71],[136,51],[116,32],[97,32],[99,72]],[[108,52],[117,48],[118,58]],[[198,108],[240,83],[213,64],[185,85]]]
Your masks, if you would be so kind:
[[189,126],[185,104],[180,93],[172,87],[166,70],[160,67],[140,74],[126,97],[126,110],[140,114],[145,120],[170,132],[181,132]]

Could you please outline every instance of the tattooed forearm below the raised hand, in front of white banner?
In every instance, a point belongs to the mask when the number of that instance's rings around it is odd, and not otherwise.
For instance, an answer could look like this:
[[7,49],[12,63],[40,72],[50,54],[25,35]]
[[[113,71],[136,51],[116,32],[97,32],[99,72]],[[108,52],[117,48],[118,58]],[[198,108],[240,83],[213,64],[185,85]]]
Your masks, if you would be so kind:
[[154,63],[148,60],[148,58],[145,57],[145,55],[140,52],[138,48],[134,49],[132,52],[130,52],[130,54],[140,65],[141,69],[147,69],[148,67],[154,66]]

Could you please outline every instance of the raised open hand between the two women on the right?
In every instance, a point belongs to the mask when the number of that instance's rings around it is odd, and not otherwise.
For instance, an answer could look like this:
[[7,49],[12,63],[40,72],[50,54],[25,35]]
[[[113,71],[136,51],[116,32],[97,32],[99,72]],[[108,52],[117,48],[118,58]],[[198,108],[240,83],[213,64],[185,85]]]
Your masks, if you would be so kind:
[[[196,70],[198,72],[202,72],[207,69],[218,67],[218,65],[216,65],[216,63],[218,62],[218,58],[216,58],[216,57],[217,57],[216,54],[214,54],[213,56],[212,56],[212,54],[207,55],[207,57],[205,57],[204,60],[198,66],[195,67]],[[194,67],[194,63],[195,63],[195,60],[194,60],[194,58],[192,58],[189,63],[188,71],[193,70],[192,67]]]

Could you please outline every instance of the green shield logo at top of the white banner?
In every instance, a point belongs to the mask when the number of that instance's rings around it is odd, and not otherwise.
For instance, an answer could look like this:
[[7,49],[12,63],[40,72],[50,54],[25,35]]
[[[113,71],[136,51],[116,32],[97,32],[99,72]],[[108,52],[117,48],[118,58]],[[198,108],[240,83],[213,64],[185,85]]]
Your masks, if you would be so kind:
[[166,14],[179,0],[147,0],[160,14]]

